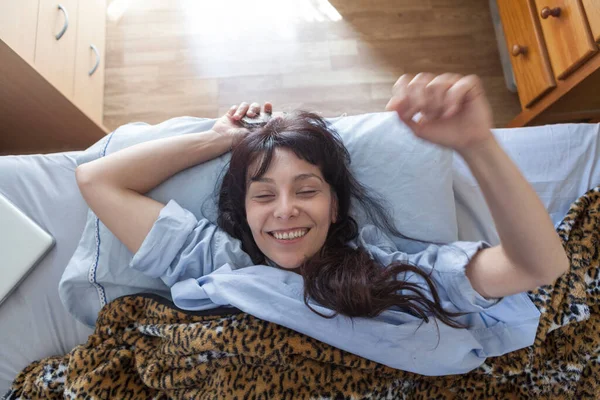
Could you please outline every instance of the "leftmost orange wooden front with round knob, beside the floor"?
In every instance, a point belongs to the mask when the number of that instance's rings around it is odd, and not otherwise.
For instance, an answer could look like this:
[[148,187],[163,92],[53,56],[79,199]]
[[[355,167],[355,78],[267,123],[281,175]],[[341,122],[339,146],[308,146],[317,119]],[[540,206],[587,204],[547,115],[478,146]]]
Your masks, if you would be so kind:
[[532,1],[497,0],[522,108],[556,86]]

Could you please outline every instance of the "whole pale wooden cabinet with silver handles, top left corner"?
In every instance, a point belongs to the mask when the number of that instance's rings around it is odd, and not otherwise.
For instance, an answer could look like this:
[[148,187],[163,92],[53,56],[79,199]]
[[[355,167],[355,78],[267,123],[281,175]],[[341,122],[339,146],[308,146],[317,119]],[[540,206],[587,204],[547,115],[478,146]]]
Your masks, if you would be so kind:
[[105,37],[106,0],[0,0],[0,154],[106,135]]

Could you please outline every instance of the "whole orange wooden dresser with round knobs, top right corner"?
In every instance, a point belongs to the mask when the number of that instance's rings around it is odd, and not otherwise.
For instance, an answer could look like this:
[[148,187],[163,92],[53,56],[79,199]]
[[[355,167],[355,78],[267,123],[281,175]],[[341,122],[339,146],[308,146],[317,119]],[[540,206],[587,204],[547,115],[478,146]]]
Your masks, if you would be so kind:
[[509,127],[600,120],[600,0],[496,0],[522,111]]

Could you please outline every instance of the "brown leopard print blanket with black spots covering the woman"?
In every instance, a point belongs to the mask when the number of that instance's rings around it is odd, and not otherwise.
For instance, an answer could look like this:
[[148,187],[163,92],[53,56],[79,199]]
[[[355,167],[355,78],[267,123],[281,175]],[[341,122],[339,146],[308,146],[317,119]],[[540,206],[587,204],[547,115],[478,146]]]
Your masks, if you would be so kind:
[[133,295],[101,310],[87,343],[26,367],[6,399],[600,398],[599,227],[600,187],[557,228],[570,271],[528,292],[535,343],[464,375],[399,371],[235,308]]

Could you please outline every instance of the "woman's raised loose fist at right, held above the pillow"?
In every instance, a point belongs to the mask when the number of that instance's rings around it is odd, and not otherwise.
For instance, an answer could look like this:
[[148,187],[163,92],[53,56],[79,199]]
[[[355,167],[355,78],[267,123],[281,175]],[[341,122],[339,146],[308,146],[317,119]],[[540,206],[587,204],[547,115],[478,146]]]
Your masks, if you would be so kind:
[[[493,137],[492,110],[475,75],[402,75],[386,106],[416,136],[464,152]],[[421,114],[421,119],[413,117]]]

